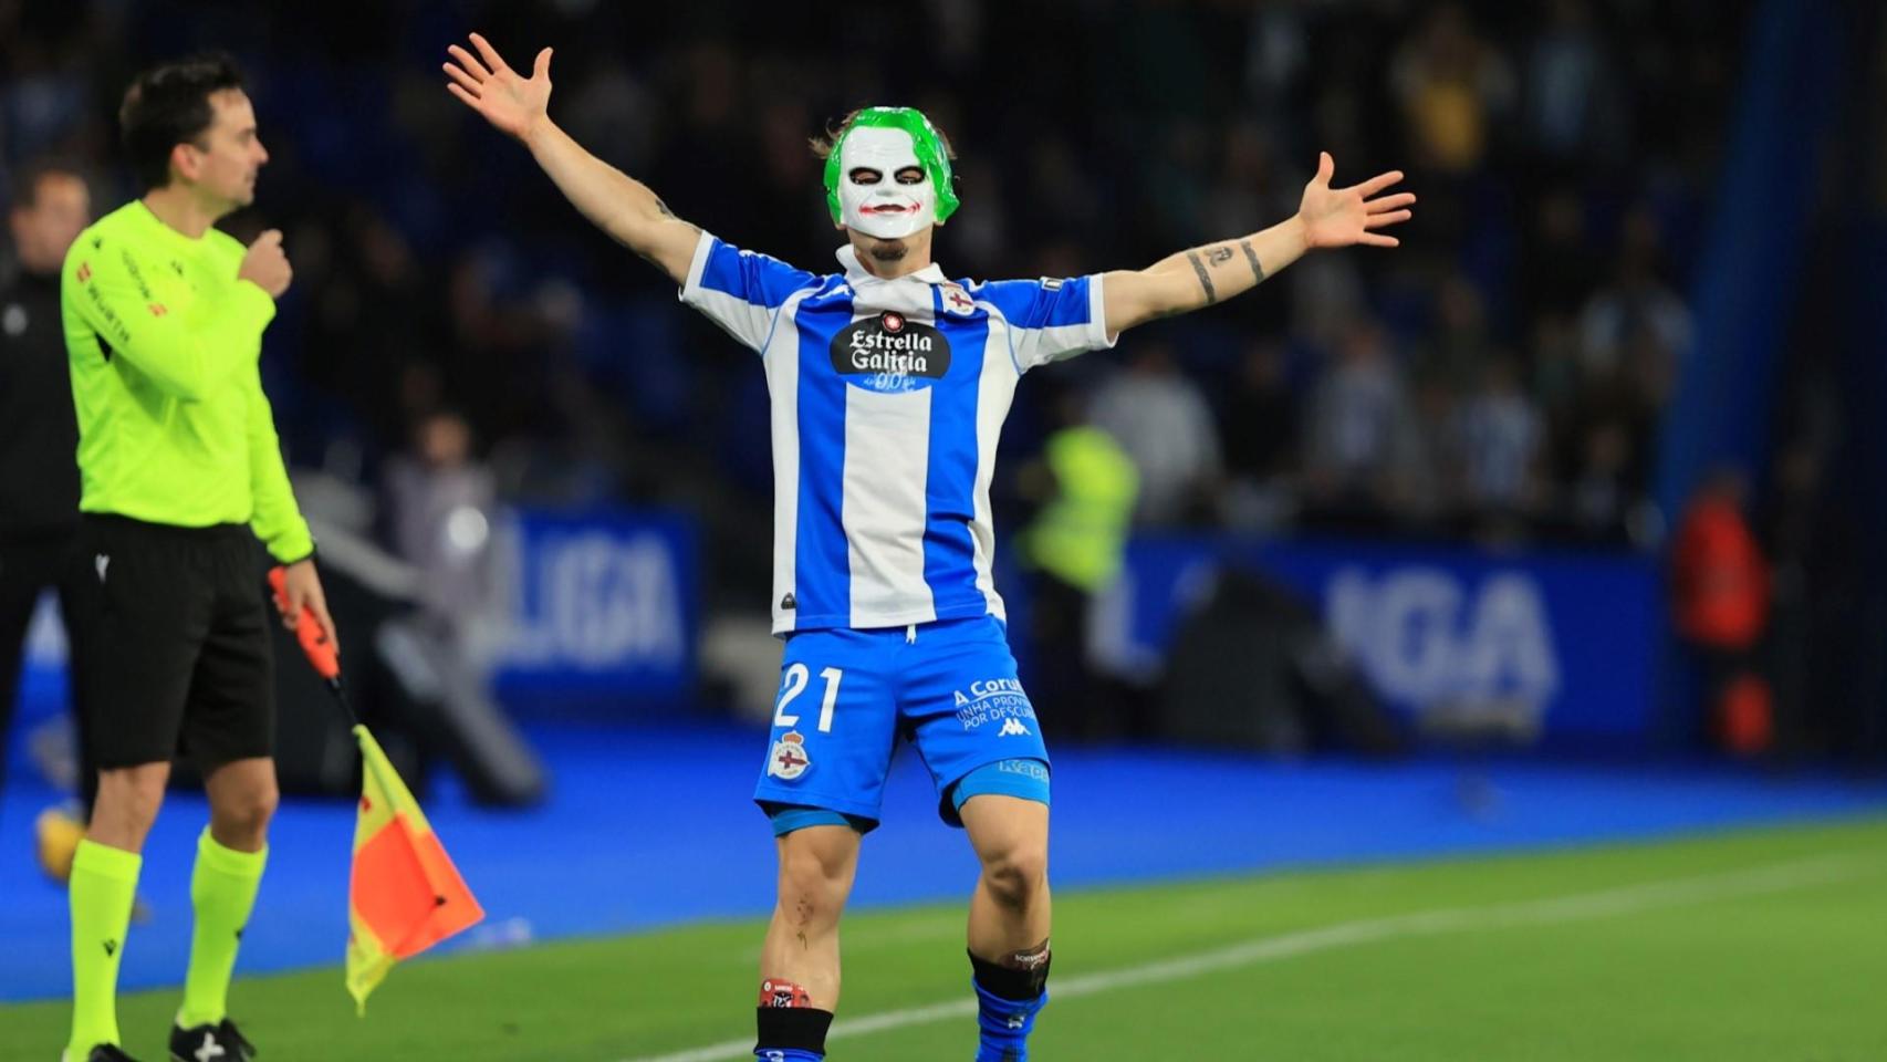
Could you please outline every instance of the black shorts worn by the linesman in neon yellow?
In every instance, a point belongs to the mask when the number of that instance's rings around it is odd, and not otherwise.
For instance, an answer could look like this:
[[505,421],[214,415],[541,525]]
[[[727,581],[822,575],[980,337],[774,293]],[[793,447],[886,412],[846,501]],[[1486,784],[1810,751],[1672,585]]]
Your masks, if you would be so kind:
[[100,770],[194,760],[215,768],[276,749],[272,613],[247,524],[179,528],[87,513],[91,653],[75,683]]

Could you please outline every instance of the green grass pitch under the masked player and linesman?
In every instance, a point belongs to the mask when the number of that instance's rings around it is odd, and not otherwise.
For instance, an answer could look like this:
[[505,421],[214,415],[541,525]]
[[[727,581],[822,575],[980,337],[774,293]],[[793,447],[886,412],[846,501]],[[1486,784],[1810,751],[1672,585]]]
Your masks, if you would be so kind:
[[[340,970],[249,977],[232,1011],[266,1062],[736,1060],[698,1049],[751,1037],[759,930],[421,958],[366,1019]],[[828,1058],[970,1060],[959,905],[859,911],[843,949]],[[1038,1062],[1887,1060],[1887,821],[1068,892],[1051,996]],[[162,1060],[175,1005],[126,996],[126,1049]],[[0,1007],[0,1060],[64,1028]]]

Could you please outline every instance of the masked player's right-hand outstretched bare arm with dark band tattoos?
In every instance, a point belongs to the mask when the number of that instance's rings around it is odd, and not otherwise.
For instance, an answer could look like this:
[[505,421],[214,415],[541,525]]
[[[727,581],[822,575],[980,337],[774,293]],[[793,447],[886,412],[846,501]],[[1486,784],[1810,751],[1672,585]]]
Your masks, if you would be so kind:
[[1336,162],[1330,153],[1323,153],[1317,175],[1304,185],[1304,200],[1289,221],[1238,240],[1168,255],[1145,270],[1106,274],[1102,298],[1108,334],[1244,294],[1315,247],[1394,247],[1398,240],[1378,228],[1410,219],[1408,207],[1415,202],[1411,192],[1381,196],[1402,181],[1402,172],[1391,170],[1347,189],[1332,189],[1332,174]]

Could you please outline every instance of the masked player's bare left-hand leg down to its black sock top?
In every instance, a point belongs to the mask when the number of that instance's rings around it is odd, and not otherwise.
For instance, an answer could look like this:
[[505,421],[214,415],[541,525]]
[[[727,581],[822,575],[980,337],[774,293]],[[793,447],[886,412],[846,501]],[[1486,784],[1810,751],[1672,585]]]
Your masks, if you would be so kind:
[[838,1009],[838,921],[859,871],[859,832],[806,826],[777,845],[779,902],[760,949],[760,1056],[819,1058]]

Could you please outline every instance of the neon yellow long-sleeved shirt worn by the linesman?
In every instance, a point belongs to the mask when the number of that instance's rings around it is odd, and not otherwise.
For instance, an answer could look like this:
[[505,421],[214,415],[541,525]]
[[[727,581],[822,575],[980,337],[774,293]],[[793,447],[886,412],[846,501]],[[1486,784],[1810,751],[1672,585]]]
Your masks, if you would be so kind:
[[83,513],[155,524],[249,524],[270,555],[313,553],[262,394],[266,290],[245,249],[200,240],[130,202],[79,234],[60,274]]

